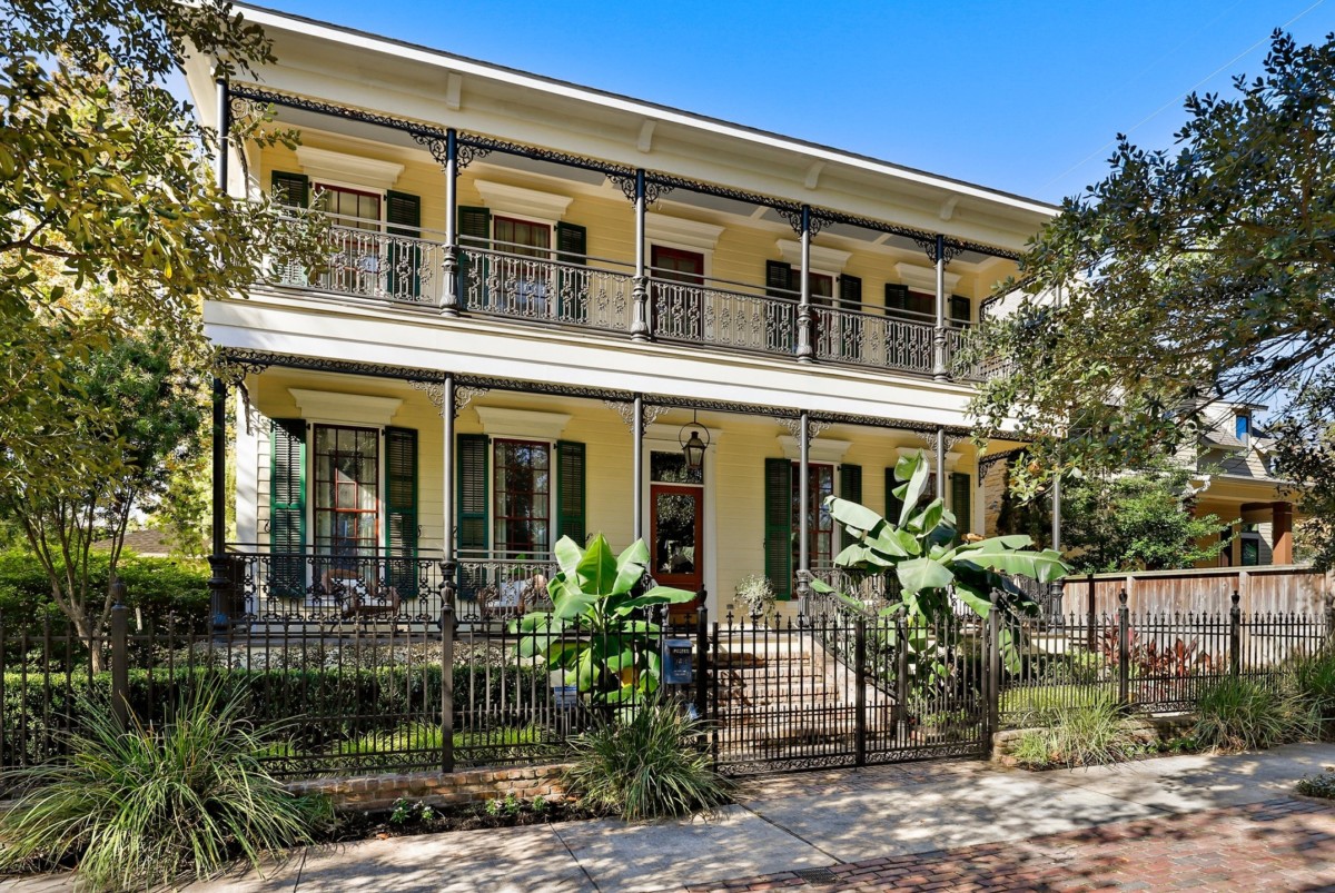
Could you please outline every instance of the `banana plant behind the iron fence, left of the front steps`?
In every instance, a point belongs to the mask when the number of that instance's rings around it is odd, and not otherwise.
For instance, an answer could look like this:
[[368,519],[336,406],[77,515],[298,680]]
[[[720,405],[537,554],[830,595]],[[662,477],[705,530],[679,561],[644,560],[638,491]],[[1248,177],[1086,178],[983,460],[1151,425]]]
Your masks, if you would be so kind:
[[649,549],[642,539],[617,555],[602,534],[583,549],[562,537],[554,553],[559,571],[547,582],[553,610],[514,622],[519,657],[563,670],[593,703],[639,703],[658,690],[661,675],[661,630],[645,618],[646,609],[689,602],[696,593],[645,590]]

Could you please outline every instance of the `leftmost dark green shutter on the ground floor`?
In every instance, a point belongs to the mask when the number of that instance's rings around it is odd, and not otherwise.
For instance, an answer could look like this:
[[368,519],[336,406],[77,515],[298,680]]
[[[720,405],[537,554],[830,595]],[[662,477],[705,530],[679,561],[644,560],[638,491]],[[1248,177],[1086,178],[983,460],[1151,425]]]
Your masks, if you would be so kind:
[[268,465],[271,595],[306,593],[306,420],[272,419]]

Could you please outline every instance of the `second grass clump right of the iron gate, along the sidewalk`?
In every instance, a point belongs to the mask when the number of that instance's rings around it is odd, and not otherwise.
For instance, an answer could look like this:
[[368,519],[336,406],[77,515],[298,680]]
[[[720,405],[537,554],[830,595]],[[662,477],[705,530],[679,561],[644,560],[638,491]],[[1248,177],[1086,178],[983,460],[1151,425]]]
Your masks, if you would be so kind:
[[1311,711],[1303,703],[1255,679],[1220,679],[1196,697],[1192,737],[1203,748],[1260,750],[1311,733]]

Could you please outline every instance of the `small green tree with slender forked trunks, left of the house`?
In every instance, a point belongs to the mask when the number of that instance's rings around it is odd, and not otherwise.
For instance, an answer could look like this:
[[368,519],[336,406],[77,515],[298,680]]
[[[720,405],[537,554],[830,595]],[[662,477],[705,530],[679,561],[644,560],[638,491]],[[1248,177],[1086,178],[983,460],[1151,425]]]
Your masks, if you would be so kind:
[[[51,598],[75,631],[89,641],[111,613],[111,587],[131,517],[159,507],[174,469],[200,451],[204,411],[198,371],[178,363],[167,332],[117,339],[105,350],[72,359],[61,370],[71,392],[93,407],[75,412],[84,457],[95,458],[73,479],[33,462],[45,453],[8,453],[0,462],[0,506],[23,530],[51,585]],[[33,436],[40,438],[39,428]],[[92,543],[111,538],[108,577],[99,581]],[[96,658],[97,653],[93,651]]]

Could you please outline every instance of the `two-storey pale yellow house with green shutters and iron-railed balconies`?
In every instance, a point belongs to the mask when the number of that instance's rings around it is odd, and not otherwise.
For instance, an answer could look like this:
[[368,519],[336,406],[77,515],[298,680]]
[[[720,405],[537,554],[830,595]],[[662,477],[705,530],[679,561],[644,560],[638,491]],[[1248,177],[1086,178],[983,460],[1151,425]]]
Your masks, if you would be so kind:
[[917,450],[983,530],[952,348],[1056,208],[242,9],[278,63],[191,60],[200,115],[272,104],[302,144],[231,147],[228,188],[335,224],[318,266],[204,307],[246,610],[434,617],[450,586],[503,615],[595,531],[712,611],[757,571],[789,599],[841,547],[821,499],[885,511]]

